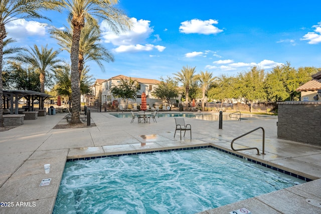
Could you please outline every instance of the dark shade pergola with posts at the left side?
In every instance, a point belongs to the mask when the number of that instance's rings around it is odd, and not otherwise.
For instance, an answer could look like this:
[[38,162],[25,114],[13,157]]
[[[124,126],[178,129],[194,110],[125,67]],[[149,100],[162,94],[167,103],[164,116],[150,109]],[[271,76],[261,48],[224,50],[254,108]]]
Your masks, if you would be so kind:
[[[10,105],[10,114],[18,114],[19,106],[18,101],[21,98],[25,98],[27,100],[26,111],[34,110],[34,101],[39,101],[39,109],[44,109],[45,100],[50,96],[49,94],[40,93],[36,91],[28,91],[28,90],[3,90],[3,99],[4,99],[4,109],[7,109]],[[15,105],[15,109],[14,109]],[[28,108],[27,108],[28,107]]]

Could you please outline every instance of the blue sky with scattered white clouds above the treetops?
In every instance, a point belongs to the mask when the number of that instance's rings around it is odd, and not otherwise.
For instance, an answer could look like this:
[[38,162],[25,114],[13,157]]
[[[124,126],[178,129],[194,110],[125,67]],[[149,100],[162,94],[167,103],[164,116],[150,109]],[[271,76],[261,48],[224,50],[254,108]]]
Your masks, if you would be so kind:
[[[320,1],[182,1],[121,0],[116,6],[134,28],[118,36],[101,24],[102,45],[115,57],[105,72],[88,62],[95,79],[116,75],[159,79],[183,66],[214,76],[237,75],[258,66],[270,71],[289,62],[292,67],[321,67]],[[50,12],[46,20],[15,21],[6,26],[17,46],[37,44],[59,49],[50,26],[67,25],[67,15]],[[67,52],[61,58],[70,61]]]

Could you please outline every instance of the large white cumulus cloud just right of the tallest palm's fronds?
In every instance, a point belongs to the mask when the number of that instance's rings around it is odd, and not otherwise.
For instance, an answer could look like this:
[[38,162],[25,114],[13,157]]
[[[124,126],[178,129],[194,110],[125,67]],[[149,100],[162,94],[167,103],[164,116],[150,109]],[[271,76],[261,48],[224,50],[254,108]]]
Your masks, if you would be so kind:
[[[145,44],[146,40],[154,32],[150,27],[150,21],[137,20],[131,18],[130,21],[133,24],[132,30],[126,33],[114,34],[109,30],[109,27],[105,23],[102,23],[100,29],[102,30],[102,38],[105,43],[111,43],[117,48],[113,49],[117,53],[123,52],[139,52],[139,51],[151,51],[157,50],[163,52],[166,47],[159,45]],[[162,41],[158,34],[154,35],[153,42]]]

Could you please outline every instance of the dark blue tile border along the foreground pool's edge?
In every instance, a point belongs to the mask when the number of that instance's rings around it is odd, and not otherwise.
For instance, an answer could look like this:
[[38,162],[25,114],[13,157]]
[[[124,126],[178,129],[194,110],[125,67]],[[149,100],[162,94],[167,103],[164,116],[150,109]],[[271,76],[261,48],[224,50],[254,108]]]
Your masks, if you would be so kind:
[[[124,153],[124,154],[112,154],[112,155],[103,155],[103,156],[94,156],[94,157],[71,158],[71,159],[67,159],[67,162],[77,161],[77,160],[92,160],[92,159],[104,158],[104,157],[119,157],[119,156],[124,156],[124,155],[149,154],[149,153],[154,153],[154,152],[170,152],[170,151],[181,151],[181,150],[202,149],[202,148],[214,148],[214,149],[217,149],[219,151],[225,152],[227,154],[234,155],[234,156],[242,158],[242,159],[244,157],[242,155],[235,154],[235,153],[227,151],[225,149],[221,149],[221,148],[218,148],[218,147],[215,147],[215,146],[212,146],[212,145],[206,145],[206,146],[193,146],[193,147],[175,148],[175,149],[162,149],[162,150],[155,150],[155,151],[142,151],[142,152],[133,152],[133,153]],[[280,169],[280,168],[268,165],[266,163],[262,163],[260,161],[253,160],[251,158],[247,158],[247,160],[252,162],[252,163],[256,163],[256,164],[259,164],[261,166],[273,169],[275,171],[278,171],[278,172],[281,172],[281,173],[296,177],[298,179],[305,180],[307,182],[308,181],[312,181],[312,179],[310,179],[310,178],[307,178],[307,177],[304,177],[304,176],[301,176],[301,175],[286,171],[284,169]]]

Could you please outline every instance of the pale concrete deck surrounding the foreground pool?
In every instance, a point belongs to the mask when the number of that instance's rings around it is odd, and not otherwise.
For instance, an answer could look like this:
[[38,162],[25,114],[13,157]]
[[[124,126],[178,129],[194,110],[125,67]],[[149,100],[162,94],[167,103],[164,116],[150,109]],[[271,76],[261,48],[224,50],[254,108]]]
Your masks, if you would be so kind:
[[[179,134],[174,138],[175,120],[171,117],[138,124],[137,120],[130,123],[131,118],[91,113],[95,127],[53,129],[66,123],[63,117],[46,115],[0,132],[0,202],[7,202],[0,213],[52,213],[67,159],[206,145],[232,151],[233,138],[257,127],[265,129],[265,154],[256,155],[256,150],[233,153],[313,181],[200,213],[229,213],[243,207],[252,213],[321,213],[321,147],[277,139],[277,116],[242,115],[241,121],[224,120],[223,129],[218,121],[185,118],[192,125],[192,140],[186,134],[182,141]],[[262,131],[236,140],[234,147],[258,147],[261,153]],[[46,163],[51,164],[49,174],[44,171]],[[40,186],[46,178],[51,178],[50,184]]]

